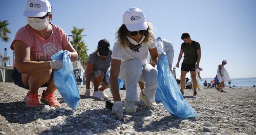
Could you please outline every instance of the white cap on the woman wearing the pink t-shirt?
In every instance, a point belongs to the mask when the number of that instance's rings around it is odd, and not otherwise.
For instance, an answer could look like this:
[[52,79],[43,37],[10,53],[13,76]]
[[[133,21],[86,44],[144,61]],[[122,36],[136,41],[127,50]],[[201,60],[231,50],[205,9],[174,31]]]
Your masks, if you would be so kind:
[[23,15],[26,17],[43,17],[47,12],[52,12],[52,7],[48,0],[28,0]]

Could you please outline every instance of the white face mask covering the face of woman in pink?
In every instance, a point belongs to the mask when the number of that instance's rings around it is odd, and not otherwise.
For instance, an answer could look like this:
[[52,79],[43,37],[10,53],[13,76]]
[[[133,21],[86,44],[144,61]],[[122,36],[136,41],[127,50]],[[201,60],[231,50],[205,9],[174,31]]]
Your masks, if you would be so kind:
[[45,17],[45,19],[28,17],[27,22],[35,30],[43,30],[49,24],[48,17]]

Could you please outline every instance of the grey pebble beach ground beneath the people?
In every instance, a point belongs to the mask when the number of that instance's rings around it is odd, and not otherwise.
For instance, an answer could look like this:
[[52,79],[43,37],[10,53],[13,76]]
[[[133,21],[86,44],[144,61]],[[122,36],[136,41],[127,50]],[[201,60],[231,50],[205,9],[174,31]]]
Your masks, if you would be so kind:
[[[256,88],[240,87],[203,89],[194,97],[185,89],[184,98],[197,112],[197,117],[179,119],[172,116],[162,103],[155,109],[137,102],[136,113],[124,113],[119,121],[109,116],[105,108],[109,98],[85,98],[85,86],[79,86],[80,103],[76,110],[69,108],[58,91],[54,93],[61,108],[41,103],[27,108],[23,101],[28,92],[13,83],[0,83],[0,135],[254,135],[256,134]],[[41,95],[44,88],[40,88]],[[138,88],[138,95],[139,95]],[[121,90],[125,99],[125,90]],[[49,110],[47,110],[49,109]]]

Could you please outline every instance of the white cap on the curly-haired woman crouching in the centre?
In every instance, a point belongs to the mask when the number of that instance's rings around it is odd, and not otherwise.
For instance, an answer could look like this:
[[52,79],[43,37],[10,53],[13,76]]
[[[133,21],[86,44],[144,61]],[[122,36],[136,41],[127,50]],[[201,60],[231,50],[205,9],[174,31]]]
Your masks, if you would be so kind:
[[125,12],[123,24],[129,31],[145,30],[148,27],[143,11],[137,7],[130,8]]

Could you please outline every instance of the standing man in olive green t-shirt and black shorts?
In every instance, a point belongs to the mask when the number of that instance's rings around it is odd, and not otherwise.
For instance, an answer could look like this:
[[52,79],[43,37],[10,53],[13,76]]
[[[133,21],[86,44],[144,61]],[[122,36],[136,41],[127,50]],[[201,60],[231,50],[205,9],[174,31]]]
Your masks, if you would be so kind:
[[184,52],[184,59],[181,67],[181,77],[180,77],[180,91],[184,95],[183,89],[185,85],[185,77],[188,72],[191,74],[191,79],[193,82],[194,96],[197,95],[197,81],[195,77],[195,69],[199,69],[199,62],[201,59],[201,48],[200,44],[196,41],[191,40],[188,33],[183,33],[181,39],[184,41],[180,48],[180,55],[178,57],[178,62],[176,67],[179,68],[180,59]]

